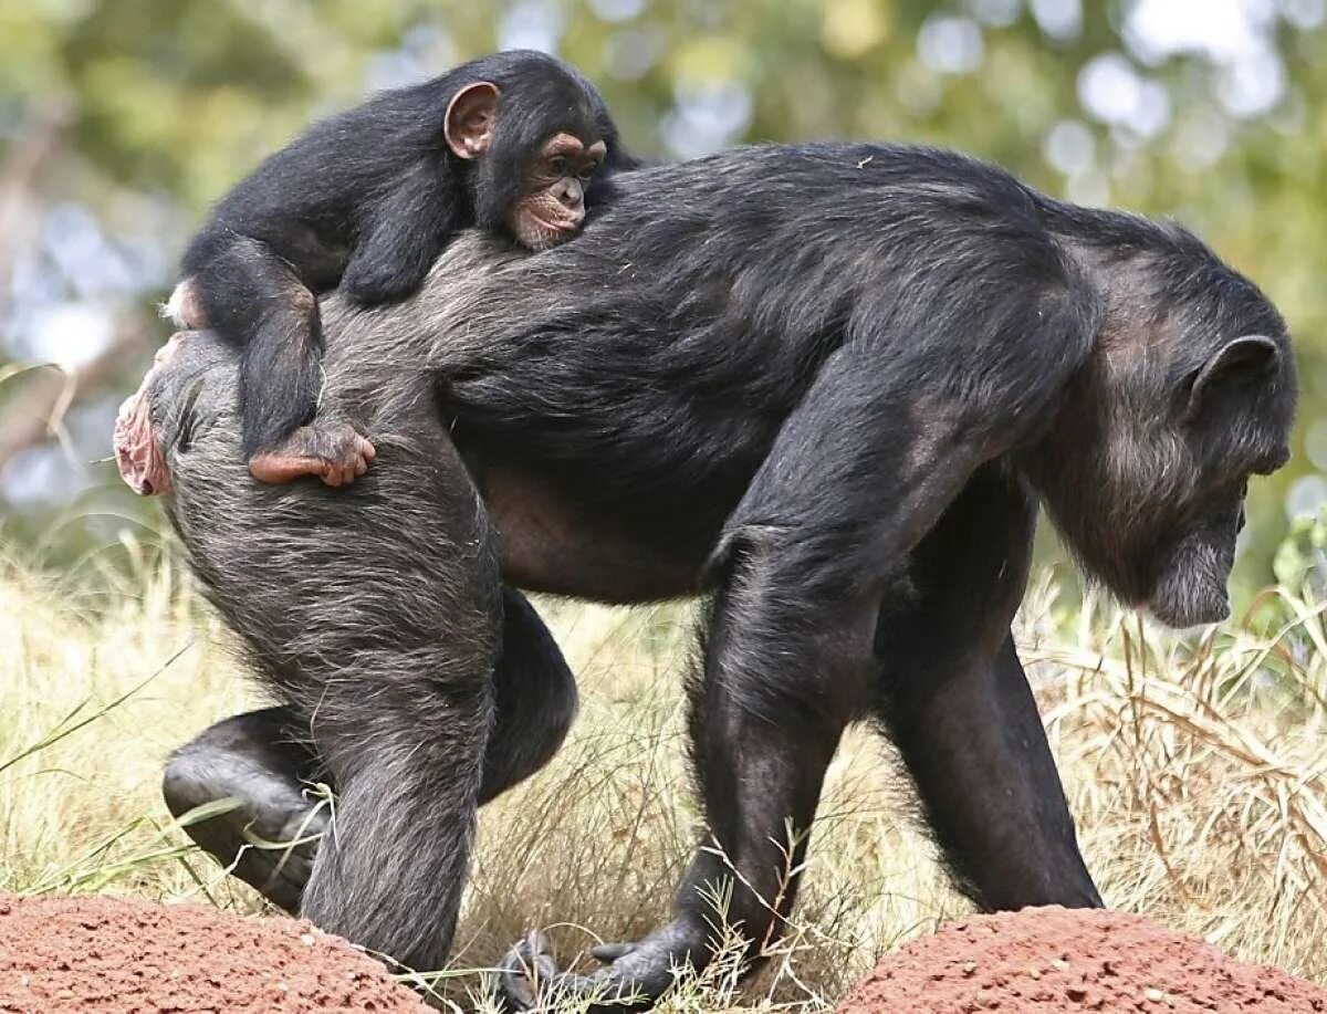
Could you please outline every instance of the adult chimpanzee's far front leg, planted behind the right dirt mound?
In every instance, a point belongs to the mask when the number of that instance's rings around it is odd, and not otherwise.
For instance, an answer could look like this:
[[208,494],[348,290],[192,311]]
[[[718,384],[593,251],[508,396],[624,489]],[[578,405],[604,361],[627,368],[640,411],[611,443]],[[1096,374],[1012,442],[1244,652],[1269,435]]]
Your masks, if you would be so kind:
[[914,555],[917,599],[876,630],[877,714],[959,887],[985,909],[1099,906],[1009,624],[1035,504],[979,472]]

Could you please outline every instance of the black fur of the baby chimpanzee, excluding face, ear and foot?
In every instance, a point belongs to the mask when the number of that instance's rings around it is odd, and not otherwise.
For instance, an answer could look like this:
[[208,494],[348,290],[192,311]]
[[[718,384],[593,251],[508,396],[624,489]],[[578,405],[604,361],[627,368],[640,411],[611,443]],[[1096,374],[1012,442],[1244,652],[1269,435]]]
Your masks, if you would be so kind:
[[[443,135],[451,98],[488,81],[502,90],[492,149],[474,163]],[[338,285],[361,304],[414,292],[462,228],[502,234],[532,154],[557,131],[608,146],[589,187],[634,165],[594,86],[529,50],[474,60],[387,92],[313,126],[216,204],[184,252],[210,326],[242,350],[245,457],[313,418],[321,334],[311,293]]]

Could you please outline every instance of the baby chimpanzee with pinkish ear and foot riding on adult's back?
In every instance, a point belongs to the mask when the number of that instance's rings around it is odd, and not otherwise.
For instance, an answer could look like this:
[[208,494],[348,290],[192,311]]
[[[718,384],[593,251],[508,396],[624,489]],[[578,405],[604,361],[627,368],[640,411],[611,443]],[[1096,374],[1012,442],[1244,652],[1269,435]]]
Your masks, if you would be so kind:
[[242,352],[243,451],[255,476],[353,482],[374,449],[314,421],[316,293],[402,299],[462,228],[541,250],[580,228],[601,166],[632,159],[608,106],[544,53],[474,60],[317,123],[227,194],[184,252],[169,309]]

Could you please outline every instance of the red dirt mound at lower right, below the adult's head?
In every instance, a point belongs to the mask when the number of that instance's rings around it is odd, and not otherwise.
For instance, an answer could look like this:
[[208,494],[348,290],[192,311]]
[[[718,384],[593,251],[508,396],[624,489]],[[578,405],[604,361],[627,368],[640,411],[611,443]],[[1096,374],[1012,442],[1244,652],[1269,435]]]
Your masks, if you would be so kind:
[[1327,990],[1123,912],[974,916],[888,956],[840,1014],[1327,1011]]

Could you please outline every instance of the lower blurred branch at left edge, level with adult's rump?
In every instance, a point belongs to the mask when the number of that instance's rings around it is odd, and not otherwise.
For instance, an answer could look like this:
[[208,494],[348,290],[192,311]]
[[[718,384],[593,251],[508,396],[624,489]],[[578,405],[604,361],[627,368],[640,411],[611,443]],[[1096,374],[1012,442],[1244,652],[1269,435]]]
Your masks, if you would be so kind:
[[113,381],[121,369],[141,354],[147,337],[142,321],[126,317],[117,323],[110,344],[73,370],[45,366],[0,410],[0,470],[20,453],[54,437],[73,454],[64,418],[69,409]]

